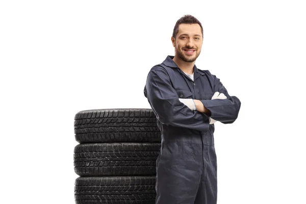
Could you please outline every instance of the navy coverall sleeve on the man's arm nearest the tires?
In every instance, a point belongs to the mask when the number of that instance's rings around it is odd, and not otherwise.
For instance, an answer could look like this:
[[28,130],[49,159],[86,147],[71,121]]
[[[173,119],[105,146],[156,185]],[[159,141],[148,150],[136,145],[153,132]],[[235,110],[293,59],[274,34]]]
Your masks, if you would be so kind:
[[148,102],[161,123],[197,131],[209,130],[209,118],[181,103],[163,68],[150,70],[145,89]]

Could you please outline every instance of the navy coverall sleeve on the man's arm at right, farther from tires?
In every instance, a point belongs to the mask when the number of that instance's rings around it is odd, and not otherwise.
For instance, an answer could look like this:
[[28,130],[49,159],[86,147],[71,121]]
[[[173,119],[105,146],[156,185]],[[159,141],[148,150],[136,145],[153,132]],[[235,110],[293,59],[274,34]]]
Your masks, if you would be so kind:
[[214,92],[223,93],[226,99],[201,100],[202,104],[211,112],[210,117],[223,124],[233,123],[239,114],[241,102],[238,97],[230,96],[220,80],[213,75]]

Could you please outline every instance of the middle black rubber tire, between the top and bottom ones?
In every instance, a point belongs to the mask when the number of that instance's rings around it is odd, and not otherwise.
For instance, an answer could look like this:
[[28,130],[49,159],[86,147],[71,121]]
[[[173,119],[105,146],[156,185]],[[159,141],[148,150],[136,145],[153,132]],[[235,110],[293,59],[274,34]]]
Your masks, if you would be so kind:
[[80,176],[156,175],[160,143],[88,143],[74,147]]

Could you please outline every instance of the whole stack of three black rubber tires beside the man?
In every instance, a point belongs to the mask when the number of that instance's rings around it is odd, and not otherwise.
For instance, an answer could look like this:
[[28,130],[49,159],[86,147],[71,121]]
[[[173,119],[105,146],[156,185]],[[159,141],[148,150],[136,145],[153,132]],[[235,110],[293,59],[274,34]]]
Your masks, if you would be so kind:
[[77,204],[155,203],[161,135],[151,109],[81,111],[74,118]]

